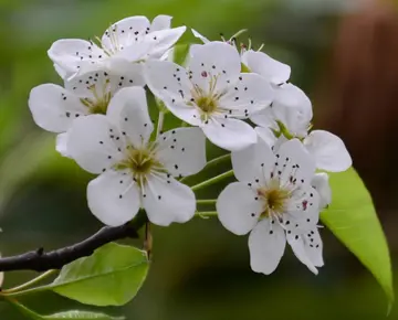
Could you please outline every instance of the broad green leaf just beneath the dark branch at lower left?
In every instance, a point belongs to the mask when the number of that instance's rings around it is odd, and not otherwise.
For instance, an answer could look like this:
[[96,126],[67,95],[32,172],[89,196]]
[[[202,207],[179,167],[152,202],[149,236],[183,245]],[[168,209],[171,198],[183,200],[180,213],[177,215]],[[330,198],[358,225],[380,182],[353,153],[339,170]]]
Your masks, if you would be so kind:
[[123,306],[142,287],[149,267],[145,252],[109,243],[62,268],[46,288],[93,306]]

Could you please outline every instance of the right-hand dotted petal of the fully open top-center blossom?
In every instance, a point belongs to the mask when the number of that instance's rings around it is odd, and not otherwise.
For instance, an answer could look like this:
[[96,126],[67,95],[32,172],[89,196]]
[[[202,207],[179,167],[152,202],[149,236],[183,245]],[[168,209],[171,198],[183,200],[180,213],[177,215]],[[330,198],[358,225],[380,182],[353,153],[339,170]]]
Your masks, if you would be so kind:
[[248,116],[269,107],[274,98],[274,90],[270,83],[260,75],[242,73],[231,82],[227,94],[220,100],[220,107],[232,110],[232,116],[238,111]]

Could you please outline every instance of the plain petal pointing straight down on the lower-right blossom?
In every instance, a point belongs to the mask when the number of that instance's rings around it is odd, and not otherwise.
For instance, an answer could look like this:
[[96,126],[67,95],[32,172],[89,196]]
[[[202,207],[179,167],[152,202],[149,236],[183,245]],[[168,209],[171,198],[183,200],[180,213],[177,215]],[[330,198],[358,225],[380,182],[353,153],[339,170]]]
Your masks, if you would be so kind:
[[249,236],[250,265],[253,271],[272,274],[284,253],[286,237],[279,224],[260,221]]

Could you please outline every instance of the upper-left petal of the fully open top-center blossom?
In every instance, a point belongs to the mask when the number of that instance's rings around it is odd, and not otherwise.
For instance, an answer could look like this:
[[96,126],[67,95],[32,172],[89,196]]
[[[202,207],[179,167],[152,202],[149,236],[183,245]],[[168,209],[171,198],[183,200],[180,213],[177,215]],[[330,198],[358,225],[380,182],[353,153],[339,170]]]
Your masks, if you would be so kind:
[[191,99],[192,85],[184,67],[168,61],[148,61],[145,79],[153,94],[176,117],[192,126],[201,124],[199,111],[187,104]]

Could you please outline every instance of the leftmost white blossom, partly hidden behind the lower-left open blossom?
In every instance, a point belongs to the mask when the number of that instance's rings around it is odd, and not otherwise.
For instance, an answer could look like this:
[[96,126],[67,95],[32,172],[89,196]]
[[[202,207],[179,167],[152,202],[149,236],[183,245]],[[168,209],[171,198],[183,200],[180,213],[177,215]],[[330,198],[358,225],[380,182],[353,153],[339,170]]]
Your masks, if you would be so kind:
[[61,134],[56,140],[56,149],[67,156],[66,131],[74,119],[93,114],[106,114],[117,90],[144,84],[142,77],[137,78],[135,75],[128,68],[122,75],[95,71],[65,81],[64,87],[43,84],[31,90],[29,108],[38,126]]

